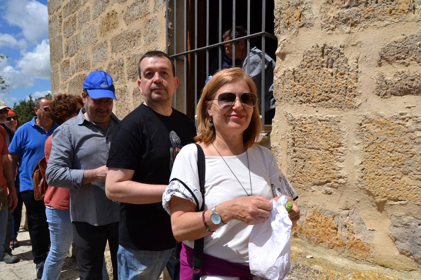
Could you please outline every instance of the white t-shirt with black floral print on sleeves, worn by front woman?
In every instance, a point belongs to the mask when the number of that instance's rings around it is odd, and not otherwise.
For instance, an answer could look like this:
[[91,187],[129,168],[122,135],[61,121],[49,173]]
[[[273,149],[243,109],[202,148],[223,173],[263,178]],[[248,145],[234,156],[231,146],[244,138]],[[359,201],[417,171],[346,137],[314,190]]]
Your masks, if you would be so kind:
[[[269,149],[253,145],[248,148],[247,153],[224,157],[224,160],[215,156],[205,157],[205,209],[210,211],[222,202],[251,193],[267,199],[280,195],[288,195],[293,199],[298,197]],[[250,165],[251,188],[248,164]],[[244,189],[232,173],[237,176]],[[202,206],[195,144],[188,144],[181,149],[174,162],[170,178],[170,180],[174,178],[176,180],[171,181],[163,194],[163,207],[168,213],[169,201],[173,196],[187,199],[196,205],[198,203],[199,208]],[[251,225],[232,220],[218,228],[211,236],[205,236],[203,252],[229,262],[248,265],[248,239],[251,229]],[[190,248],[194,247],[193,240],[183,242]],[[231,280],[236,278],[202,277],[201,279]]]

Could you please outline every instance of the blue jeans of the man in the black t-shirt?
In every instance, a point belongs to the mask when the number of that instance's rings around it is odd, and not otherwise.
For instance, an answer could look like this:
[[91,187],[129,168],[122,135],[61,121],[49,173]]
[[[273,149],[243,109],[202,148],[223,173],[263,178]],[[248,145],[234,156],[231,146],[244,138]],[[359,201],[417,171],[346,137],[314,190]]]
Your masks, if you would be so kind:
[[173,277],[175,249],[143,251],[118,246],[118,279],[158,280],[165,266]]

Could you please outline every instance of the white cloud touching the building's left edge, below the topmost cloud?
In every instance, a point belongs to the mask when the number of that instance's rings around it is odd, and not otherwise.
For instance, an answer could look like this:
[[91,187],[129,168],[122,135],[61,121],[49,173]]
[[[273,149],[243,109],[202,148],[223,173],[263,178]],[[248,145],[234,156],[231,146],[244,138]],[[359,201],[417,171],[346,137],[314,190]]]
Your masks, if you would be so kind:
[[16,63],[16,67],[27,76],[50,80],[50,44],[43,40],[32,52],[25,52],[23,58]]

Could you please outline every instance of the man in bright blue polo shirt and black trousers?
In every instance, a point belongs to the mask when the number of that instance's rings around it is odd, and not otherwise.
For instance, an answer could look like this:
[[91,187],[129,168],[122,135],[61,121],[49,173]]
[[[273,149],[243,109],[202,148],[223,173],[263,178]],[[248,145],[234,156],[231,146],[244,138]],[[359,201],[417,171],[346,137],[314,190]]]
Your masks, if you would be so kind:
[[36,117],[19,127],[9,147],[13,177],[19,162],[20,191],[27,209],[29,237],[37,278],[43,275],[44,262],[50,245],[50,231],[45,216],[44,201],[35,200],[31,175],[35,165],[45,156],[45,140],[58,126],[47,116],[50,103],[51,99],[45,97],[35,100]]

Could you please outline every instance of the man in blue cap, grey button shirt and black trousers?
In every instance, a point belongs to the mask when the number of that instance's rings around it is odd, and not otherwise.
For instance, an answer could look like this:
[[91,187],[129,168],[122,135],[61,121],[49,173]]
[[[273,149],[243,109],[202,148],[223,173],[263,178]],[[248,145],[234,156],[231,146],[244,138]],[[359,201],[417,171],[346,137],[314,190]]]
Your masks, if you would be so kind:
[[80,279],[102,279],[108,240],[117,275],[119,204],[105,195],[108,152],[120,120],[112,113],[115,88],[104,71],[83,82],[85,107],[56,129],[45,174],[48,185],[70,188],[70,218]]

